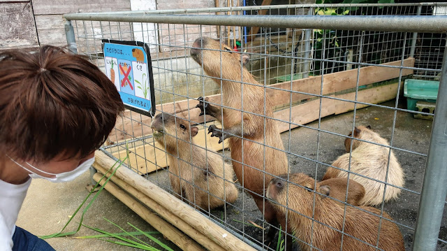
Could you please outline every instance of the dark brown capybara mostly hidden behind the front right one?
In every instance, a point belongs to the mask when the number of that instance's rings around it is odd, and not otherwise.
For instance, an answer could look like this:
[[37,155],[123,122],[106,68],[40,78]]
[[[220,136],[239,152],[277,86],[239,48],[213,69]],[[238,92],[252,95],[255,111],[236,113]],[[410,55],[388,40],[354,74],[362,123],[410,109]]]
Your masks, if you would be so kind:
[[[329,198],[335,198],[339,201],[345,201],[346,188],[348,187],[348,178],[332,178],[318,182],[320,189],[329,190]],[[346,203],[352,206],[360,206],[360,201],[365,196],[365,187],[359,182],[349,179],[348,197]],[[334,200],[335,201],[335,200]],[[344,206],[344,203],[335,201],[340,206]]]

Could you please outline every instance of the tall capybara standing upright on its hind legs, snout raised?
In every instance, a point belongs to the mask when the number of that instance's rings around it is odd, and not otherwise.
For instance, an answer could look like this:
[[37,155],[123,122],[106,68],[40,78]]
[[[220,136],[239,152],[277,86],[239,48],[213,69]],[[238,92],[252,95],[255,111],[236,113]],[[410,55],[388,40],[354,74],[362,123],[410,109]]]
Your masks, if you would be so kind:
[[[253,196],[265,220],[277,224],[277,215],[263,196],[272,175],[288,173],[288,162],[277,124],[270,119],[273,117],[270,97],[254,76],[242,67],[248,62],[248,55],[237,53],[228,45],[207,37],[197,38],[192,47],[191,57],[222,87],[223,113],[221,107],[211,106],[199,98],[198,107],[202,113],[215,117],[224,127],[211,126],[209,131],[221,141],[229,138],[237,179]],[[279,220],[283,218],[278,217]],[[270,229],[267,241],[276,233],[274,227]]]

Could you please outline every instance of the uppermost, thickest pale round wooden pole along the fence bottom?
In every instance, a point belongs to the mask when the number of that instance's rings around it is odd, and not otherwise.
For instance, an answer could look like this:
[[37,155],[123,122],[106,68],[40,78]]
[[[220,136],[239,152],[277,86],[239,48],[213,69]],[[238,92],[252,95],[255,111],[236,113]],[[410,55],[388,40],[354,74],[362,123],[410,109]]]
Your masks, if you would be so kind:
[[[96,151],[95,157],[96,163],[101,166],[113,166],[115,164],[114,160],[110,159],[110,157],[101,151]],[[191,206],[186,205],[186,203],[183,203],[149,180],[142,178],[138,173],[131,171],[129,168],[118,168],[115,175],[135,189],[138,189],[150,199],[153,199],[156,203],[159,203],[166,210],[170,210],[171,213],[183,219],[191,227],[200,231],[200,233],[208,236],[208,238],[217,243],[217,245],[220,245],[223,249],[255,251],[250,245],[233,236],[233,234],[230,234],[225,229],[222,229],[197,210],[191,208]]]

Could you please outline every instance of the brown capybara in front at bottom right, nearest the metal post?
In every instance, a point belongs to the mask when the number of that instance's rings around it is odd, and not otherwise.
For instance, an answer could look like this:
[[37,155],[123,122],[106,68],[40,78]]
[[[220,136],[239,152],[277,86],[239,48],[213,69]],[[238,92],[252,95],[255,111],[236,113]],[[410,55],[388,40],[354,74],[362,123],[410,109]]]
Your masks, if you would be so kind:
[[[330,190],[322,189],[318,183],[315,186],[315,180],[304,173],[291,174],[289,180],[290,182],[282,178],[272,179],[268,186],[267,196],[279,203],[274,204],[277,210],[283,214],[288,210],[288,226],[299,239],[301,249],[311,250],[312,243],[313,247],[319,250],[341,250],[344,207],[321,195],[330,196]],[[321,194],[314,194],[314,191]],[[286,205],[286,202],[288,208],[282,206]],[[379,229],[379,216],[376,215],[380,215],[381,211],[369,206],[360,208],[362,210],[351,206],[346,207],[344,251],[376,250],[374,247],[379,230],[379,248],[387,251],[405,250],[402,234],[397,225],[389,221],[390,215],[383,212]]]

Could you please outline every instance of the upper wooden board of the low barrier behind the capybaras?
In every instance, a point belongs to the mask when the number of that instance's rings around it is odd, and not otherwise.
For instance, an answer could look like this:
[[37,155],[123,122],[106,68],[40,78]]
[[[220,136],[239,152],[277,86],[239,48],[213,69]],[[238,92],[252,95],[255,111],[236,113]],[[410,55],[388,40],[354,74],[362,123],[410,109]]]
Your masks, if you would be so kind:
[[[388,66],[400,66],[401,62],[390,62],[383,65]],[[403,62],[404,66],[412,67],[414,65],[414,58],[405,59]],[[311,94],[331,94],[334,92],[340,92],[346,89],[352,89],[356,87],[357,83],[357,69],[349,71],[340,71],[337,73],[325,74],[323,76],[323,89],[321,90],[321,76],[314,76],[310,78],[294,80],[292,83],[279,83],[274,85],[268,85],[265,89],[268,95],[272,99],[272,104],[274,107],[288,106],[292,96],[292,103],[297,103],[305,99],[314,97]],[[385,80],[390,80],[397,78],[399,76],[400,69],[397,68],[386,68],[381,66],[367,66],[360,69],[359,86],[369,85],[372,83],[377,83]],[[412,74],[413,71],[410,69],[403,69],[402,76],[407,76]],[[291,89],[293,93],[289,89]],[[272,89],[275,88],[275,89]],[[305,92],[307,94],[296,93]],[[221,104],[221,94],[216,94],[208,96],[210,102]],[[191,120],[192,122],[203,123],[203,116],[198,116],[200,110],[196,108],[198,101],[195,99],[186,99],[184,101],[177,101],[175,103],[165,103],[156,106],[156,110],[163,110],[165,113],[174,113],[179,111],[184,111],[183,113],[177,114],[179,117],[184,117]],[[288,112],[287,112],[288,113]],[[132,120],[130,119],[132,117]],[[207,116],[207,121],[214,120],[214,118]],[[152,118],[134,113],[131,111],[124,112],[123,118],[117,120],[115,129],[110,134],[112,141],[122,141],[125,138],[139,137],[142,135],[151,134],[152,130],[149,127]]]

